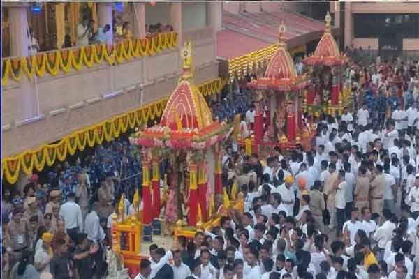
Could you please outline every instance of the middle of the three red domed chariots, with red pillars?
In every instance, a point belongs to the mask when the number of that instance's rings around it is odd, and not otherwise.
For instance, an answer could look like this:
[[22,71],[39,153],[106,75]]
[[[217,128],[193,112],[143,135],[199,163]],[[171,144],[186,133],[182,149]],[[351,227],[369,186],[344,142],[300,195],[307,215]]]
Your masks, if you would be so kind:
[[[264,77],[247,84],[256,90],[258,101],[265,102],[265,105],[258,105],[253,137],[241,137],[247,151],[252,149],[259,153],[265,149],[265,153],[270,153],[274,146],[281,149],[295,149],[299,145],[304,149],[311,148],[312,133],[302,117],[305,105],[302,96],[309,80],[305,75],[295,73],[293,59],[286,49],[285,32],[286,27],[281,22],[279,47],[270,59]],[[264,125],[261,107],[269,107],[270,113],[265,113],[267,125]]]

